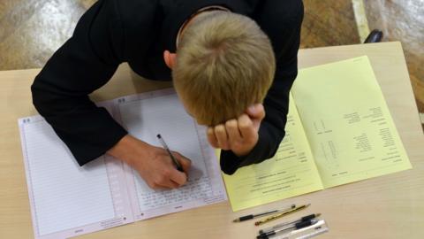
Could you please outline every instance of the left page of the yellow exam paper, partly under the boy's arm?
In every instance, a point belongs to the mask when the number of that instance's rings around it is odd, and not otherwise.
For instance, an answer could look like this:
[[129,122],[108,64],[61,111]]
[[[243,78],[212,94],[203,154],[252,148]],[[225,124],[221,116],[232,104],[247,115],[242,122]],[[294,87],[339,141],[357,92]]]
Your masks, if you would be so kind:
[[323,189],[292,96],[285,131],[274,158],[223,174],[234,212]]

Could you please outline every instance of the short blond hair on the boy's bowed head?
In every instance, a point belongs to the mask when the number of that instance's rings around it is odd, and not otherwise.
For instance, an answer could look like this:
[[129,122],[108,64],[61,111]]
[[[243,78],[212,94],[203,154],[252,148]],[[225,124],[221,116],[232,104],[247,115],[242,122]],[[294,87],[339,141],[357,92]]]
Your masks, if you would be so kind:
[[193,117],[216,126],[263,101],[276,60],[268,36],[253,19],[231,12],[202,14],[180,39],[172,77]]

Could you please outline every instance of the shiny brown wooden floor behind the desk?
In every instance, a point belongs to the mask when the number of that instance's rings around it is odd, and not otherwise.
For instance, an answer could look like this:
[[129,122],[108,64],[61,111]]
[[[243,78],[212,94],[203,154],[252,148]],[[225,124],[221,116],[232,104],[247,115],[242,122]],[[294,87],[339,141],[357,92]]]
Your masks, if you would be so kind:
[[[361,0],[369,28],[403,42],[413,90],[424,113],[424,1]],[[42,67],[95,0],[1,0],[0,70]],[[301,48],[360,43],[352,0],[304,0]],[[1,79],[0,79],[1,81]]]

